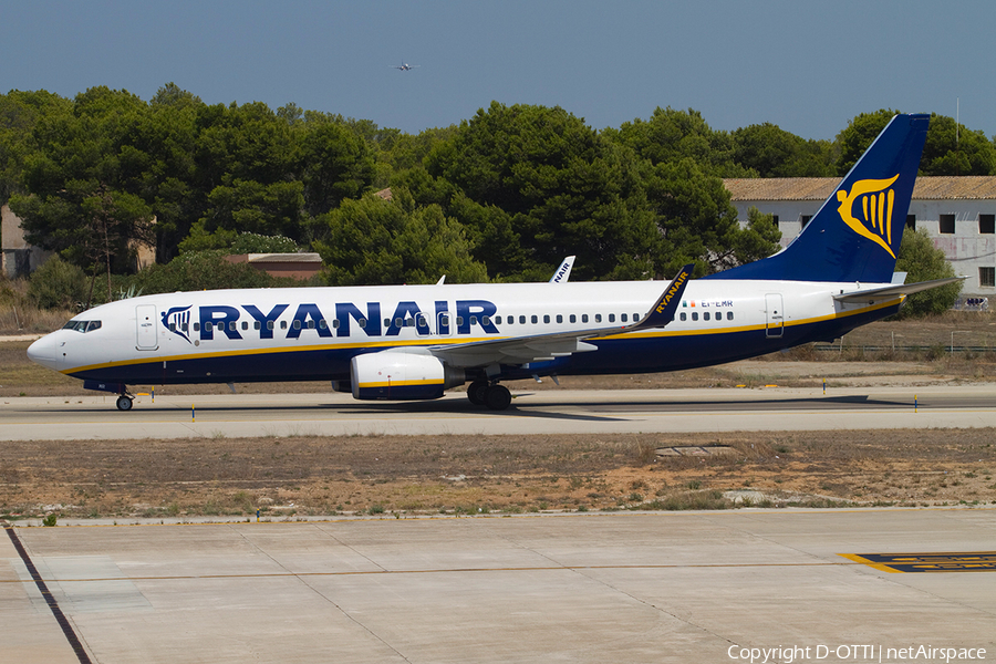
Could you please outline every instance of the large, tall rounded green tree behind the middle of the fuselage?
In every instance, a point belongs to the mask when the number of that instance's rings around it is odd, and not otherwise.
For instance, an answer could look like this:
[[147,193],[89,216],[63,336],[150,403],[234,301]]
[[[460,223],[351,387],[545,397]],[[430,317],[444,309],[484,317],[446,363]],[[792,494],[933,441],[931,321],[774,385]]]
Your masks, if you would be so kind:
[[[582,279],[652,274],[657,232],[635,156],[562,108],[492,102],[437,145],[425,166],[479,206],[461,201],[446,212],[470,212],[460,221],[474,229],[475,256],[491,273],[546,279],[573,253]],[[506,226],[506,216],[508,227],[497,234],[471,226]],[[491,243],[515,237],[518,247]]]

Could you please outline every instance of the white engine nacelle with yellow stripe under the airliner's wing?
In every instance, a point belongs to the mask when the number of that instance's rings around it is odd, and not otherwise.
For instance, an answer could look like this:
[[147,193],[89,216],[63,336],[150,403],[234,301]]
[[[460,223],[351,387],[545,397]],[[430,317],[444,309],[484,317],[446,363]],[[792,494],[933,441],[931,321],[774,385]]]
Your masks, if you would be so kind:
[[434,355],[382,351],[356,355],[350,363],[353,398],[439,398],[449,387],[466,382],[464,370]]

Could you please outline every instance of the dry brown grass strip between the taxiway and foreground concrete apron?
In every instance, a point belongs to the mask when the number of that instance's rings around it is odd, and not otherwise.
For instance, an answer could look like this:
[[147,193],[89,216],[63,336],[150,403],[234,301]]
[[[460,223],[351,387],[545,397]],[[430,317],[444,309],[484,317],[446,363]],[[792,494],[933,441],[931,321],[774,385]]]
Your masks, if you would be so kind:
[[15,442],[0,447],[0,517],[992,505],[994,434]]

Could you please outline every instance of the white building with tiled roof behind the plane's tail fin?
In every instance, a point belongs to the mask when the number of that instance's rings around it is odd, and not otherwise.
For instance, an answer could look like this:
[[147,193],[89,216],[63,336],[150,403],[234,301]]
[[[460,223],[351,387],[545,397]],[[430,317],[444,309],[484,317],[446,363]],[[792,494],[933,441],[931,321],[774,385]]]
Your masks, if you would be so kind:
[[[840,183],[834,177],[726,179],[741,224],[756,207],[774,215],[787,245]],[[963,297],[996,295],[996,176],[916,178],[906,228],[925,229],[954,271]]]

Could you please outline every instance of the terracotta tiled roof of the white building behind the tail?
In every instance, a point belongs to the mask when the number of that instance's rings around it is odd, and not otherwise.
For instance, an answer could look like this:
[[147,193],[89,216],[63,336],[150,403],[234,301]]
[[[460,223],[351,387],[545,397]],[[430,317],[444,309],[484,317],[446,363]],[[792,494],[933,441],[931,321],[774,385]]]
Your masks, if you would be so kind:
[[[725,179],[733,200],[826,200],[840,181],[836,177],[766,177]],[[922,176],[913,198],[919,200],[996,199],[996,176]]]

